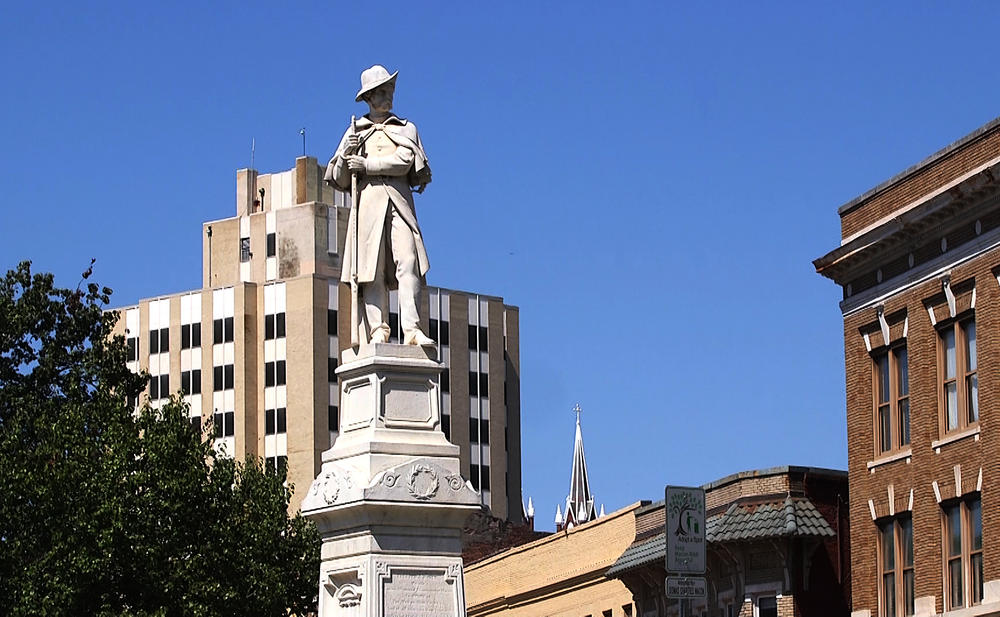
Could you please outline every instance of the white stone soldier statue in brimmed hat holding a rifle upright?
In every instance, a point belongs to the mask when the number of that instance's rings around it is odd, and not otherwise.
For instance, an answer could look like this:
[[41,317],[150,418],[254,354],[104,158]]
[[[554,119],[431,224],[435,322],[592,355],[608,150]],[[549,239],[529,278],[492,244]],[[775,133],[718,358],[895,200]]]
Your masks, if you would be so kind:
[[398,73],[379,65],[361,73],[355,101],[368,103],[369,112],[347,128],[324,179],[348,191],[355,178],[341,281],[357,275],[364,315],[352,327],[361,327],[360,340],[389,340],[389,289],[398,289],[403,343],[433,345],[417,313],[429,263],[413,206],[413,191],[423,192],[431,169],[417,127],[392,113]]

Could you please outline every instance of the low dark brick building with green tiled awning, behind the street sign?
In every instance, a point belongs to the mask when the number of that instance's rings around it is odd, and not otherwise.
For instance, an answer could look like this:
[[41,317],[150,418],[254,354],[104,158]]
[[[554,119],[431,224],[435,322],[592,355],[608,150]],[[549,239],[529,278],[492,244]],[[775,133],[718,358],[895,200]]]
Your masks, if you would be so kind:
[[[708,596],[693,600],[688,615],[847,614],[850,543],[843,471],[776,467],[732,474],[702,488]],[[635,540],[607,576],[628,587],[637,616],[679,616],[679,602],[668,600],[664,589],[664,502],[644,505],[635,517]]]

